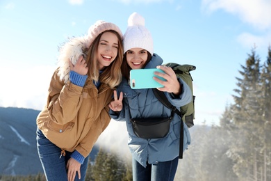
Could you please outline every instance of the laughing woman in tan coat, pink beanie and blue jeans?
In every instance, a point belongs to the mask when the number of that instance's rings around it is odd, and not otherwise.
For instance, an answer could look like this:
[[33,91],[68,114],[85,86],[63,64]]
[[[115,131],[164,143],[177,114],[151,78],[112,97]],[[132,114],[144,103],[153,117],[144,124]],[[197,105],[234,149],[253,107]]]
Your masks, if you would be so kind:
[[88,155],[110,122],[108,103],[122,81],[122,31],[98,21],[60,47],[37,146],[47,180],[84,180]]

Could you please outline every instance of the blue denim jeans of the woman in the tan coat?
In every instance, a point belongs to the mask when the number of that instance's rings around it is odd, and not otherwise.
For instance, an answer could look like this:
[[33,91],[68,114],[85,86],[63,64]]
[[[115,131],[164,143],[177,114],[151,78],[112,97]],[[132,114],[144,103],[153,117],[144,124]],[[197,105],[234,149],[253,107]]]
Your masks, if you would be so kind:
[[[70,158],[70,155],[72,155],[72,152],[65,151],[66,155],[60,157],[61,149],[58,148],[54,143],[51,143],[51,141],[49,141],[44,136],[44,134],[42,134],[40,129],[37,130],[37,148],[46,179],[49,181],[67,181],[66,164]],[[87,171],[87,168],[88,157],[86,157],[83,164],[81,164],[80,180],[85,180],[85,173]],[[78,173],[76,173],[76,177],[74,180],[79,180]]]

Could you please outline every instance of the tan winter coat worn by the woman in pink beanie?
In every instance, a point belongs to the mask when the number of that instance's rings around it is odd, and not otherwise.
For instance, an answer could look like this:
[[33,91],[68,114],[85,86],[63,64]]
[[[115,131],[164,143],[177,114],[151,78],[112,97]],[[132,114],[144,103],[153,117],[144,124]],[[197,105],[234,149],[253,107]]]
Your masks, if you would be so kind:
[[[90,79],[84,87],[72,84],[67,77],[67,61],[68,58],[60,60],[62,66],[51,78],[47,105],[38,115],[37,125],[59,148],[69,152],[77,150],[87,157],[110,122],[108,103],[113,90],[101,82],[98,92]],[[60,79],[65,76],[66,79]]]

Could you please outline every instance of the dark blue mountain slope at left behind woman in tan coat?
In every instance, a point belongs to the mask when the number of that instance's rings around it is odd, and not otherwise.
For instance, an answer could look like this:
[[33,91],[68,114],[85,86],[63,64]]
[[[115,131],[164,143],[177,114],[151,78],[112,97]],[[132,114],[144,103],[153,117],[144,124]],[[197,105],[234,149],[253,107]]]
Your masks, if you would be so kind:
[[[40,111],[0,107],[0,175],[43,173],[36,143],[36,118]],[[90,157],[97,155],[95,146]]]

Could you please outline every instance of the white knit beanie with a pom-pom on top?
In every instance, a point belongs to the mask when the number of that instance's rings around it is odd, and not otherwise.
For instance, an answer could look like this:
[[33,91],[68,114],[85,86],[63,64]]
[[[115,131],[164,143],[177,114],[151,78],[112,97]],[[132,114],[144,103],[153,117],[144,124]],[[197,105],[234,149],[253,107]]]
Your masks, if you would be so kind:
[[151,56],[154,54],[154,43],[151,33],[145,27],[145,19],[133,13],[128,19],[128,27],[123,36],[124,54],[131,48],[146,49]]

